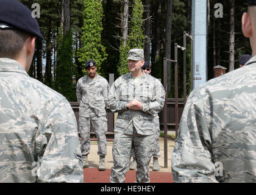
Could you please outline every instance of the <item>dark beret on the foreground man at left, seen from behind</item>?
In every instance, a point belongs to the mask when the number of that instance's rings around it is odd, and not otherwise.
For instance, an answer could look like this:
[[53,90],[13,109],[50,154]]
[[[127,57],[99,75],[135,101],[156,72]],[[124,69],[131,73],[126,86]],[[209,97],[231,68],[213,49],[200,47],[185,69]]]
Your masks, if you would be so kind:
[[0,29],[19,29],[43,39],[37,19],[18,1],[0,0],[0,23]]

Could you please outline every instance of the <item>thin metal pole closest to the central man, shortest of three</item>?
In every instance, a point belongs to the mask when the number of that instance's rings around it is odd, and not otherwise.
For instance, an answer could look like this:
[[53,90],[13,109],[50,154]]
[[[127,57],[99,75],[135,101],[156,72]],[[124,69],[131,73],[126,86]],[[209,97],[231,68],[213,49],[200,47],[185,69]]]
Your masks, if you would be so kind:
[[163,125],[164,125],[164,160],[165,168],[168,168],[168,147],[167,147],[167,60],[163,59],[163,87],[165,88],[165,106],[163,107]]

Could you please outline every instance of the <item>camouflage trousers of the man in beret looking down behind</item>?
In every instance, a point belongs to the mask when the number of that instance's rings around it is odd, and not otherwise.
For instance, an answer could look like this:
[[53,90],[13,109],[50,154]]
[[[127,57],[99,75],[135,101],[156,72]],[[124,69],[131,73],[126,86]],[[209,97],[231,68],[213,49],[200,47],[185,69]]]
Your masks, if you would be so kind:
[[90,129],[91,124],[98,140],[98,155],[107,155],[107,118],[105,116],[79,117],[79,131],[81,136],[82,155],[90,153]]

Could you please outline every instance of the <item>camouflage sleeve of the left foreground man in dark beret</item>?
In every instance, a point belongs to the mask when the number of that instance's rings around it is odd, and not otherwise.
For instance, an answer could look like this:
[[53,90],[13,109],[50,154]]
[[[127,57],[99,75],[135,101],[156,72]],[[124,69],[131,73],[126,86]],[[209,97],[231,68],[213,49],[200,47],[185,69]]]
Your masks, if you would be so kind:
[[36,143],[37,182],[84,182],[77,122],[66,99],[51,110]]

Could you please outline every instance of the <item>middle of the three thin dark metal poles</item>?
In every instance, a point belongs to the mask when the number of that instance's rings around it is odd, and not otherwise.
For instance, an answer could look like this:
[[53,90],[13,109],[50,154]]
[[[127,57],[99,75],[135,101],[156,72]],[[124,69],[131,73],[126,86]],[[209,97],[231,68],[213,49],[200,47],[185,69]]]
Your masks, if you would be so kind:
[[177,136],[177,131],[178,131],[178,120],[179,120],[179,110],[178,110],[178,44],[175,43],[175,75],[174,75],[174,79],[175,79],[175,131],[176,131],[176,136]]

